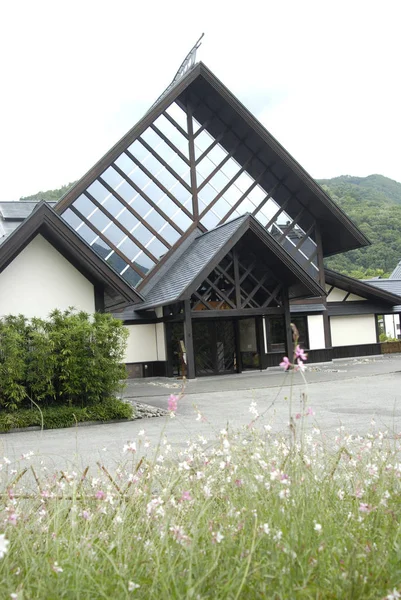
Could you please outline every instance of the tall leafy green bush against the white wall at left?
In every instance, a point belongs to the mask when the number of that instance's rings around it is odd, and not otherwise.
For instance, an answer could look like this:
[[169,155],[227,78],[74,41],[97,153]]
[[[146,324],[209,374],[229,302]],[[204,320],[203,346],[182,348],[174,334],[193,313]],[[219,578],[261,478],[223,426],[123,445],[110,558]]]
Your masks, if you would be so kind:
[[67,310],[0,321],[0,407],[90,406],[121,388],[128,333],[109,314]]

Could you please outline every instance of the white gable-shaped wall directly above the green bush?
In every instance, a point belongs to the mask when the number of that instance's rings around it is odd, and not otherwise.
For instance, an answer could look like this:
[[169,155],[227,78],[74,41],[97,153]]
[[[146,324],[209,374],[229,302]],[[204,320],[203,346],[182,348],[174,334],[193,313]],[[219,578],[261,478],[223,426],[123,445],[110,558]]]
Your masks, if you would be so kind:
[[48,317],[73,306],[95,312],[94,287],[44,237],[37,235],[0,273],[0,317]]

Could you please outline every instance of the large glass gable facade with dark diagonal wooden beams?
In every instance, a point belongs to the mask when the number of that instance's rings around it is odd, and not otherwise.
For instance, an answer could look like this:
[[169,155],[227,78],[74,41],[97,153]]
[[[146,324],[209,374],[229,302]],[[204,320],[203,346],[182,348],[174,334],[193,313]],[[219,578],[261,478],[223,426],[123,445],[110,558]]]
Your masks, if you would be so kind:
[[[194,109],[192,100],[180,98],[162,114],[156,111],[154,121],[71,199],[63,218],[133,287],[189,229],[210,230],[245,213],[317,280],[312,215],[291,192],[287,201],[275,200],[284,183],[266,178],[271,165],[210,107],[200,111],[207,118],[196,119],[199,105],[199,99]],[[220,133],[213,135],[216,123]]]

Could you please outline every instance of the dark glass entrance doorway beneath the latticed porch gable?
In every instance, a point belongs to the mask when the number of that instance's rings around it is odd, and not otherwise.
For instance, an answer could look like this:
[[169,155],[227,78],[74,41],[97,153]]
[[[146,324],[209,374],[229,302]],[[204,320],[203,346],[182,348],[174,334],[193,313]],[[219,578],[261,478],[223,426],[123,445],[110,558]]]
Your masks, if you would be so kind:
[[225,375],[237,371],[233,321],[193,321],[192,333],[197,377]]

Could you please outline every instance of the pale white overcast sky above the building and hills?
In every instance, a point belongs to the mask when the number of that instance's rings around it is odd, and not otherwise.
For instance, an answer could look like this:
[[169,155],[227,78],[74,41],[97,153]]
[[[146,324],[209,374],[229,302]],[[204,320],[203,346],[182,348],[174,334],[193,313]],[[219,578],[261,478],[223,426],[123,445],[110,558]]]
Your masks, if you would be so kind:
[[198,59],[315,178],[401,182],[399,0],[0,7],[0,200],[81,177]]

